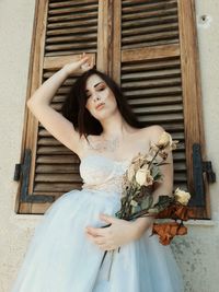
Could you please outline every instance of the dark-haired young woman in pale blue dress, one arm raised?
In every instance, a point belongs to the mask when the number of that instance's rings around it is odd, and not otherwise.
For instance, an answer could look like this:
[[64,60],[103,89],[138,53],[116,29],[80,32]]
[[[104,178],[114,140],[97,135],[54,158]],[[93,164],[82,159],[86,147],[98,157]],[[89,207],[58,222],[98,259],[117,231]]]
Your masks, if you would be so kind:
[[[62,82],[80,68],[83,74],[73,84],[61,115],[49,104]],[[85,55],[44,82],[27,106],[57,140],[78,154],[83,186],[64,194],[45,212],[12,292],[182,292],[181,272],[170,246],[149,236],[153,219],[130,222],[115,217],[123,174],[131,159],[147,153],[164,129],[140,127],[117,84],[95,70]],[[162,166],[165,179],[154,198],[172,194],[171,151],[168,161]],[[108,277],[111,250],[119,246]]]

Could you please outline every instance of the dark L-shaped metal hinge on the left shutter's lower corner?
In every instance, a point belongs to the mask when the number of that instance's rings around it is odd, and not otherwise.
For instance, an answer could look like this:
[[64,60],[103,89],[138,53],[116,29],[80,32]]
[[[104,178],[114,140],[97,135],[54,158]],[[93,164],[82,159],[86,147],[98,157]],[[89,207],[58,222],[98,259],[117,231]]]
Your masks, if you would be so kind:
[[31,149],[24,150],[24,159],[23,164],[15,164],[14,170],[14,180],[21,179],[21,194],[20,194],[20,202],[53,202],[55,201],[55,196],[46,196],[46,195],[30,195],[28,194],[28,182],[30,182],[30,170],[31,170],[31,157],[32,151]]

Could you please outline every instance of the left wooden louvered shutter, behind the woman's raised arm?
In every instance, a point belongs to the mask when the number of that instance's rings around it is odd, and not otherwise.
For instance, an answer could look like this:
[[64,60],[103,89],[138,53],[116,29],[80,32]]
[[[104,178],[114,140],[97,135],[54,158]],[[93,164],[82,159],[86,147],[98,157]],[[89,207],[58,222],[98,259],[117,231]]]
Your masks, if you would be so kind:
[[[82,51],[95,60],[99,21],[102,19],[97,0],[36,1],[27,98],[65,63],[79,59]],[[53,108],[60,110],[70,85],[80,73],[61,85],[53,98]],[[25,126],[16,211],[44,213],[64,192],[80,189],[79,159],[30,110],[26,110]]]

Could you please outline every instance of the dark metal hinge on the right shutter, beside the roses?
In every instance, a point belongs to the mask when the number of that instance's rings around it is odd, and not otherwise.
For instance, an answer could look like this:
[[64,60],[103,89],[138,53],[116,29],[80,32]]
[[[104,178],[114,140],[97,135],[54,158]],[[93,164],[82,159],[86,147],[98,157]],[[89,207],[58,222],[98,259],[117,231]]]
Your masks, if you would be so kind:
[[189,206],[205,207],[206,194],[203,174],[206,173],[208,183],[216,182],[216,174],[212,171],[211,161],[203,161],[200,144],[193,144],[193,180],[194,196],[191,198]]

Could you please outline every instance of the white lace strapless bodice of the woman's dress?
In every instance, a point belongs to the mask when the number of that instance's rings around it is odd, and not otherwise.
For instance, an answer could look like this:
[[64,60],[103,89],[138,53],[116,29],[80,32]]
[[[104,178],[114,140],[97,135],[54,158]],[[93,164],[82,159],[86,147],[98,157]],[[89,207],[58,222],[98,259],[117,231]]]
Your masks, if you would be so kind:
[[82,188],[122,192],[123,175],[129,162],[130,160],[115,161],[103,155],[89,154],[80,164]]

